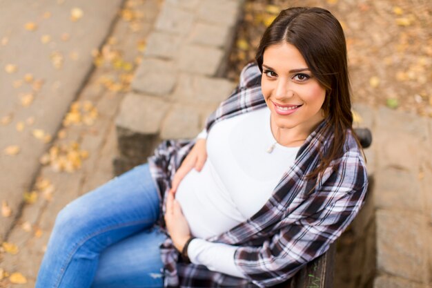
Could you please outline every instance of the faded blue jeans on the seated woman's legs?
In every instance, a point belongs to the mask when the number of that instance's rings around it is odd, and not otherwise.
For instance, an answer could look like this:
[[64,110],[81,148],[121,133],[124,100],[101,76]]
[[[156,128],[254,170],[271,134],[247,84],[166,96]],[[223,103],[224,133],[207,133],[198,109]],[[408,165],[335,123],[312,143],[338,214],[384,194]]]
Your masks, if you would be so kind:
[[163,287],[159,197],[143,164],[64,207],[36,288]]

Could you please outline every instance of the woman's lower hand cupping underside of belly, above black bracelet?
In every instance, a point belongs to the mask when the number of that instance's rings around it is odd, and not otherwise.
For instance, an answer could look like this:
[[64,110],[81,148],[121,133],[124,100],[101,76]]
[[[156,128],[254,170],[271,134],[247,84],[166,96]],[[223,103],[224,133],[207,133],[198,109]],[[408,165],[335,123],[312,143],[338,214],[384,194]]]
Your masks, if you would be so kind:
[[181,212],[180,204],[171,191],[166,200],[165,224],[175,248],[181,252],[190,238],[190,229],[188,221]]

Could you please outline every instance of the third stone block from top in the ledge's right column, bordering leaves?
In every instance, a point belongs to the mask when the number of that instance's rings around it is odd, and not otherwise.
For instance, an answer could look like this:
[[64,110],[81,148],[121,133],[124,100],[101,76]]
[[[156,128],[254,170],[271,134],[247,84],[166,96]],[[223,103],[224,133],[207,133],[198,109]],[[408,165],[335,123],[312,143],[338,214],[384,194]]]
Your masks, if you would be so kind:
[[179,54],[179,70],[201,75],[216,75],[224,52],[217,48],[186,45]]

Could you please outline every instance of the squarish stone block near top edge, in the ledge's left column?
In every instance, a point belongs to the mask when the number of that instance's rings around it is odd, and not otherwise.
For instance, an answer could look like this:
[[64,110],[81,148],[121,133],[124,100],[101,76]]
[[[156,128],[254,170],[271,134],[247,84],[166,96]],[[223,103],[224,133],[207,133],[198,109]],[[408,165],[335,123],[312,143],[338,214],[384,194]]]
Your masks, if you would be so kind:
[[165,3],[156,21],[156,30],[175,35],[188,35],[195,21],[195,14]]

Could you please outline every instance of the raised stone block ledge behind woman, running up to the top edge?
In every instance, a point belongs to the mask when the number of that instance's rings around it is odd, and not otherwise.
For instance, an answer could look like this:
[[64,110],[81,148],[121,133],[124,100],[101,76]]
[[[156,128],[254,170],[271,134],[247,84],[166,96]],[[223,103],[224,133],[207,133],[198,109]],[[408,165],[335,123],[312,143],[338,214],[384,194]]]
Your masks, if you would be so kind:
[[242,2],[165,1],[116,120],[117,174],[146,162],[161,140],[195,137],[233,90],[221,76]]

